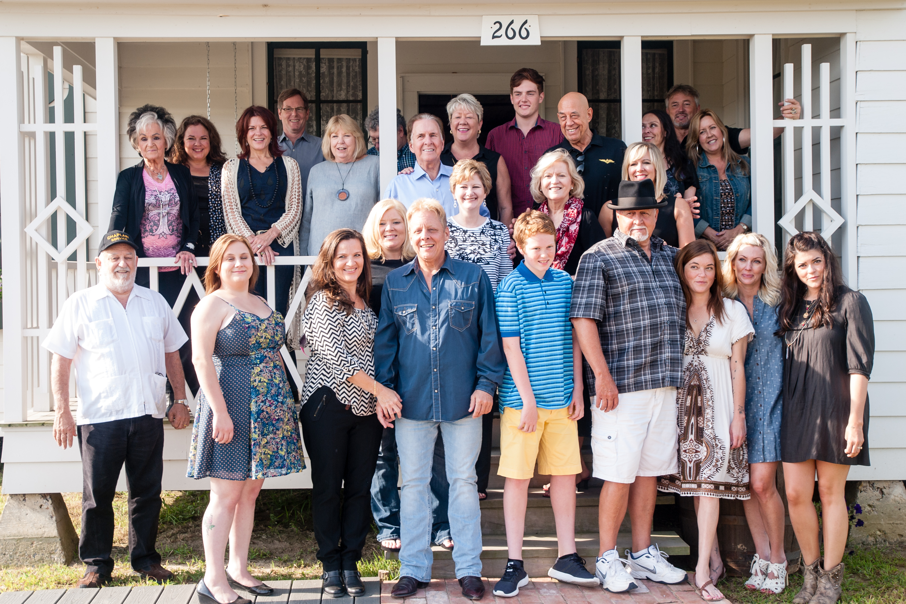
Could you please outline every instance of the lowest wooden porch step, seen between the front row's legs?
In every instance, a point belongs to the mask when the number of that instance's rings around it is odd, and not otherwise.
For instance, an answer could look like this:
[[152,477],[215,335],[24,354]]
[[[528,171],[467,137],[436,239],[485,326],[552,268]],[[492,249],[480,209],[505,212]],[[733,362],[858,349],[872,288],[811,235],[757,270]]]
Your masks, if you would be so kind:
[[[506,535],[484,535],[484,547],[481,551],[482,576],[500,577],[506,569],[508,554],[506,550]],[[651,542],[657,543],[660,551],[671,556],[688,556],[689,545],[684,542],[676,532],[652,531]],[[576,551],[585,559],[585,568],[594,572],[594,561],[600,548],[597,532],[577,533],[575,536]],[[630,532],[620,532],[617,537],[617,551],[632,547]],[[441,547],[432,547],[434,565],[431,567],[431,577],[434,579],[456,578],[456,568],[453,564],[453,552]],[[397,554],[386,552],[389,559],[398,558]],[[526,535],[523,539],[522,558],[525,572],[529,577],[546,577],[547,570],[554,566],[557,559],[557,536],[555,534]]]

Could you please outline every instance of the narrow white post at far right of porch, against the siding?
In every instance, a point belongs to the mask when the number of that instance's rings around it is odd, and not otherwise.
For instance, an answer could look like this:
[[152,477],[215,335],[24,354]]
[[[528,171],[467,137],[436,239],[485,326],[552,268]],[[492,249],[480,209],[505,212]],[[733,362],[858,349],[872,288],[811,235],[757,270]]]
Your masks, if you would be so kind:
[[[855,34],[840,36],[840,117],[851,126],[840,129],[840,215],[843,216],[841,264],[846,283],[859,289],[858,225],[855,187]],[[828,199],[830,201],[830,199]]]

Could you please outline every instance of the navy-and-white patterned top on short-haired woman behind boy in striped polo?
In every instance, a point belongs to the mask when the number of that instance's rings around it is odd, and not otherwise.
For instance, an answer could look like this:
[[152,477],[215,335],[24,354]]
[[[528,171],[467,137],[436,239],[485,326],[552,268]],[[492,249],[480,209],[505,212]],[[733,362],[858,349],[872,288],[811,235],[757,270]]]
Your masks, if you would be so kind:
[[506,254],[509,229],[501,222],[488,218],[484,225],[465,228],[453,218],[447,219],[450,238],[444,249],[457,260],[478,264],[497,291],[497,283],[513,270],[513,261]]

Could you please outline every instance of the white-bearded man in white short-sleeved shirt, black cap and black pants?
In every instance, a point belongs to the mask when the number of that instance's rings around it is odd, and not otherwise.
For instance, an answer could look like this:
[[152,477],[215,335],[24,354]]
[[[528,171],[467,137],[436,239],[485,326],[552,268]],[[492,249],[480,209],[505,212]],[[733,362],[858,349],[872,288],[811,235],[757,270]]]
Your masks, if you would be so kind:
[[[60,309],[43,347],[53,353],[51,382],[56,417],[53,438],[65,449],[77,438],[82,455],[82,535],[86,565],[80,588],[111,580],[113,496],[122,466],[130,491],[132,569],[162,582],[173,573],[154,547],[160,514],[166,415],[188,426],[179,348],[188,340],[163,296],[135,285],[136,244],[122,231],[101,238],[98,284],[73,293]],[[75,367],[77,419],[70,411],[69,377]],[[167,409],[167,376],[177,400]]]

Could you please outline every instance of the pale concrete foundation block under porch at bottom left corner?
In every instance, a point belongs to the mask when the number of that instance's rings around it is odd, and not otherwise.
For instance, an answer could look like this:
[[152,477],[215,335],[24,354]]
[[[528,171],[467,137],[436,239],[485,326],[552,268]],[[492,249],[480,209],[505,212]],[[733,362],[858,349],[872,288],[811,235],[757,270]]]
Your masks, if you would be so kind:
[[79,550],[63,495],[11,494],[0,516],[0,565],[69,564]]

